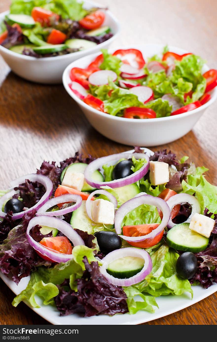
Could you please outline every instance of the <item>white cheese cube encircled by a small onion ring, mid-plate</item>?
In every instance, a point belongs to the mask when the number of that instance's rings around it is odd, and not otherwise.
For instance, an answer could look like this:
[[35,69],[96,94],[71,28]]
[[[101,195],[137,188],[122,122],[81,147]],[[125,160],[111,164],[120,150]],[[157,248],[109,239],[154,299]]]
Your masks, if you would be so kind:
[[95,223],[114,224],[114,205],[105,199],[95,199],[92,205]]

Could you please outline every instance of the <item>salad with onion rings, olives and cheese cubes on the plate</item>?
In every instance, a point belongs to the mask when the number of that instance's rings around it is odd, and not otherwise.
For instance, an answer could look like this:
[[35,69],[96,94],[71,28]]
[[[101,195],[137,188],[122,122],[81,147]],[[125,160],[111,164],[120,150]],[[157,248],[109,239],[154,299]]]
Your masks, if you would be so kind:
[[[44,161],[0,191],[0,271],[13,305],[60,315],[153,312],[156,297],[217,283],[217,187],[170,151]],[[138,296],[140,300],[138,300]]]

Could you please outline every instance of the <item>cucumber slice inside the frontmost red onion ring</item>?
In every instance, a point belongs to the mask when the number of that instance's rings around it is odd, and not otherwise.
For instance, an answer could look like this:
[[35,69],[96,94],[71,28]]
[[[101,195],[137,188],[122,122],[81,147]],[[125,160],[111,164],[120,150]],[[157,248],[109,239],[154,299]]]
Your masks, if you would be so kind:
[[133,277],[144,266],[144,259],[137,257],[124,257],[111,262],[107,272],[113,277],[124,279]]

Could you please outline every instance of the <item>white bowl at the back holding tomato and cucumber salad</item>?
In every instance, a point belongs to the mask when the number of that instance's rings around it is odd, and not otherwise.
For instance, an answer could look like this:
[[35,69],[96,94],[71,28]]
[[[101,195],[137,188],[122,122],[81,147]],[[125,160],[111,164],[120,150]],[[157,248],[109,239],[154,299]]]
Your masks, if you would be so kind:
[[[100,5],[93,1],[84,1],[84,8],[89,9],[92,7],[100,7]],[[5,11],[0,14],[0,23],[8,13],[9,11]],[[15,74],[29,81],[48,84],[61,83],[63,70],[67,65],[69,65],[69,63],[88,54],[98,52],[101,49],[107,49],[112,41],[116,39],[120,32],[120,25],[110,11],[106,11],[104,24],[111,28],[113,37],[96,45],[92,49],[56,57],[35,58],[18,54],[0,45],[0,54]]]

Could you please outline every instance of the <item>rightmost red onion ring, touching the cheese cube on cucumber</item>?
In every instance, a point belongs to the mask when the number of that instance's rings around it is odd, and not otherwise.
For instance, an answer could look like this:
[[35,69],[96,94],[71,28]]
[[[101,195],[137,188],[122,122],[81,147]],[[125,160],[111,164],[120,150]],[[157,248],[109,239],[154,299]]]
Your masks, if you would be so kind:
[[[200,214],[201,213],[201,207],[200,207],[200,203],[198,202],[197,198],[195,196],[189,195],[189,194],[177,194],[174,195],[172,197],[170,197],[167,200],[167,204],[170,208],[170,212],[172,211],[172,209],[174,208],[174,206],[176,206],[177,204],[185,204],[188,203],[190,204],[190,206],[192,207],[192,212],[191,215],[189,216],[189,218],[183,222],[183,223],[188,223],[191,221],[191,218],[193,217],[193,215],[195,213]],[[176,223],[173,223],[171,218],[167,224],[168,228],[172,228],[174,225],[176,225]]]

